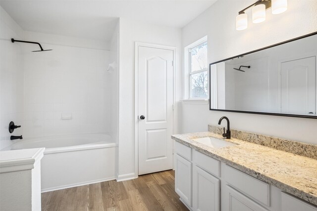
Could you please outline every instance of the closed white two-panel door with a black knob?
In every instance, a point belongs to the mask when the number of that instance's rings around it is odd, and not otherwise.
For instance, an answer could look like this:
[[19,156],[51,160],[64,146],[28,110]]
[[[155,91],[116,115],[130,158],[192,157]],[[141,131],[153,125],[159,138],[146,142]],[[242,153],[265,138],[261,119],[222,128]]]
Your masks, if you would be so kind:
[[173,168],[173,50],[138,46],[139,175]]

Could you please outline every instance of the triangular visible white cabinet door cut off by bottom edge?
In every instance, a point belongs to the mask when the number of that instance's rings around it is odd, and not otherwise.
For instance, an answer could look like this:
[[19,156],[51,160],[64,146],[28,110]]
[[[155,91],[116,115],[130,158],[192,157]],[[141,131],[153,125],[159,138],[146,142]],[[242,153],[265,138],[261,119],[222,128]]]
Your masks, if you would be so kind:
[[264,207],[249,199],[242,193],[226,185],[226,196],[223,200],[228,211],[267,211]]

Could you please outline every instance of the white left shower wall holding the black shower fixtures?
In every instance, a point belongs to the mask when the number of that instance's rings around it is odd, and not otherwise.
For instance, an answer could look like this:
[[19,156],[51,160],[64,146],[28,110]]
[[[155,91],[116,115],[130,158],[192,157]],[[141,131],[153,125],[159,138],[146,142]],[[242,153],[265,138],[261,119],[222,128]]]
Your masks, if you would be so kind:
[[10,136],[23,131],[8,131],[11,121],[23,126],[23,55],[11,38],[22,39],[23,30],[0,7],[0,149],[16,142]]

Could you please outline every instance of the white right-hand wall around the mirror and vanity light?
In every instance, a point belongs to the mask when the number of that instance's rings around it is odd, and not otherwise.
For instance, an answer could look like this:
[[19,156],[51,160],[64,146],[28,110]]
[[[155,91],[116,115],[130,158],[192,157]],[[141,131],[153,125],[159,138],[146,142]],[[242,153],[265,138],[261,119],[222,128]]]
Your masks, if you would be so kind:
[[[182,30],[182,48],[208,35],[209,63],[290,40],[317,31],[316,0],[288,0],[288,9],[279,15],[266,11],[260,24],[236,31],[238,11],[253,0],[218,0]],[[183,104],[181,132],[206,131],[208,124],[216,125],[221,116],[230,119],[231,127],[281,138],[317,144],[314,119],[240,114],[209,111],[209,105]]]

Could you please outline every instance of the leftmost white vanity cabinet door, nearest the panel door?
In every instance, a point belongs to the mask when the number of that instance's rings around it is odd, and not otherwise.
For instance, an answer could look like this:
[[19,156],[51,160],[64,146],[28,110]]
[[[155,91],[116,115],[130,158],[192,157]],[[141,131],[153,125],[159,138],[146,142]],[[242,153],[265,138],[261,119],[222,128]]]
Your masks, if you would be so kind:
[[176,154],[175,192],[192,206],[192,163]]

